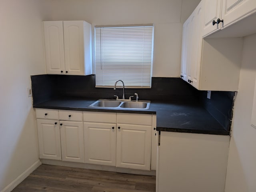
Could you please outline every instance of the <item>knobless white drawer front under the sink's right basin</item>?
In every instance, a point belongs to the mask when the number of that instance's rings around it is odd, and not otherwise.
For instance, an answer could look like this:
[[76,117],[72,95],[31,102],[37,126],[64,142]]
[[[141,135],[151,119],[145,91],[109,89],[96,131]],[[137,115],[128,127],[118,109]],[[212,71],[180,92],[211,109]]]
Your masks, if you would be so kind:
[[152,115],[135,113],[117,113],[117,123],[134,125],[152,125]]

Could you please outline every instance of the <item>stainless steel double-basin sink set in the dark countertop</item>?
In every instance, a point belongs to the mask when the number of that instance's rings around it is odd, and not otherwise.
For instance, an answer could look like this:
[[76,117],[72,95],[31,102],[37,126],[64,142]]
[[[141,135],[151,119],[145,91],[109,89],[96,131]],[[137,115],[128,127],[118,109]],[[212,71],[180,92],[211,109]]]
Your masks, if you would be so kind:
[[119,101],[112,99],[99,99],[89,107],[104,109],[142,109],[149,108],[150,101]]

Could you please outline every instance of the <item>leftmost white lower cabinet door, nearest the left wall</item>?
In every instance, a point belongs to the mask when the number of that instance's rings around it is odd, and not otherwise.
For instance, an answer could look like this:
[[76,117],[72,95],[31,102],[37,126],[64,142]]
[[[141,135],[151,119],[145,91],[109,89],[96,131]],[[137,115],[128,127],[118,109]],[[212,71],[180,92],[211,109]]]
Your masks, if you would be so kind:
[[37,119],[37,130],[39,157],[61,160],[59,121]]

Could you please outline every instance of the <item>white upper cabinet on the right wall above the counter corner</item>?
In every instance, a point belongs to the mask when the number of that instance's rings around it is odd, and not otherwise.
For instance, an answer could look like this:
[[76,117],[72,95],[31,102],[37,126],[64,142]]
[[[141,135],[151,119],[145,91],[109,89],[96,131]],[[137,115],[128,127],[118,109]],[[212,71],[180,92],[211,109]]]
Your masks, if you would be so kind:
[[202,38],[204,1],[183,25],[181,77],[198,90],[237,91],[242,38]]

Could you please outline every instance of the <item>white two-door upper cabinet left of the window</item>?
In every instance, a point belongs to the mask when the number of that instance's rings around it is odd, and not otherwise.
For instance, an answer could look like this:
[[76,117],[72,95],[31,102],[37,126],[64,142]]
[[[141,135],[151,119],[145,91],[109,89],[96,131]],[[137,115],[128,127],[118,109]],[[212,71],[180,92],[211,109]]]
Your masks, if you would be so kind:
[[44,21],[47,74],[92,74],[91,24]]

